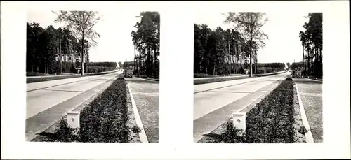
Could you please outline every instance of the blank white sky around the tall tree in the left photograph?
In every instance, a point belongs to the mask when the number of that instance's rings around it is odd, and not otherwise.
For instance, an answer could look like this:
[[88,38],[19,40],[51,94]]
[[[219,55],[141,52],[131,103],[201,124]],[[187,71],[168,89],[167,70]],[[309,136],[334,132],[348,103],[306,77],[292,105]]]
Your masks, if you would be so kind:
[[[135,16],[140,15],[140,12],[111,13],[98,10],[98,14],[102,20],[95,24],[94,29],[101,38],[97,40],[98,45],[89,50],[90,61],[133,61],[131,31],[138,22]],[[56,15],[50,10],[31,10],[27,14],[27,22],[37,22],[43,28],[51,24],[55,28],[62,27],[63,24],[54,22],[55,18]]]

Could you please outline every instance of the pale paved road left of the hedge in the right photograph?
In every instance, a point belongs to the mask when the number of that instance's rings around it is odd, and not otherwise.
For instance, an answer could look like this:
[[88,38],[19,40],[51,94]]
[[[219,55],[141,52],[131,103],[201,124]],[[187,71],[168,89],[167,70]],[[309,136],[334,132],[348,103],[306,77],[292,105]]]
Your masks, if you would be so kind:
[[194,142],[259,99],[290,73],[194,85]]

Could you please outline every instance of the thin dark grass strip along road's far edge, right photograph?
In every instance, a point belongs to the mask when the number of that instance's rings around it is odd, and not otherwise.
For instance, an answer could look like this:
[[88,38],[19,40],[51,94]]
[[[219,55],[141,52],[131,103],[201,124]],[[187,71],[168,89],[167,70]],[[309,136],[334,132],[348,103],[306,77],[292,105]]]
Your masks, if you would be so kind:
[[[260,75],[253,75],[253,77],[262,77],[262,76],[268,76],[268,75],[277,75],[282,72],[277,72],[277,73],[268,73],[268,74],[260,74]],[[195,76],[195,75],[194,75]],[[201,84],[206,84],[206,83],[211,83],[211,82],[223,82],[227,80],[240,80],[240,79],[245,79],[245,78],[250,78],[249,75],[243,75],[243,76],[238,76],[238,77],[223,77],[223,78],[210,78],[210,79],[194,79],[194,85],[201,85]]]

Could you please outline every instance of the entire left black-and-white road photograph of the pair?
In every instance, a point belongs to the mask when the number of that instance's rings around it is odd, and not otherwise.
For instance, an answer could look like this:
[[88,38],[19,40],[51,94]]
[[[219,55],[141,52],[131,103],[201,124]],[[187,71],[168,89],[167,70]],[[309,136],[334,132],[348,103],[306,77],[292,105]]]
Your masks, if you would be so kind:
[[159,24],[158,12],[28,11],[26,140],[158,143]]

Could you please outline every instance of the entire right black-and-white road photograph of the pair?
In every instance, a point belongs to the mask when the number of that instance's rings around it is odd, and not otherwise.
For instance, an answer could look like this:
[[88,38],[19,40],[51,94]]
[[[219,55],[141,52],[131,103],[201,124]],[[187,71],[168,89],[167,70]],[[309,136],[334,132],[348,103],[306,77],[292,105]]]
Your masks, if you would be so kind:
[[197,13],[194,143],[323,142],[323,13]]

